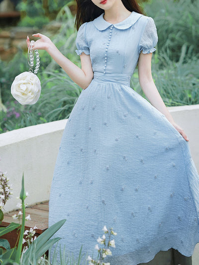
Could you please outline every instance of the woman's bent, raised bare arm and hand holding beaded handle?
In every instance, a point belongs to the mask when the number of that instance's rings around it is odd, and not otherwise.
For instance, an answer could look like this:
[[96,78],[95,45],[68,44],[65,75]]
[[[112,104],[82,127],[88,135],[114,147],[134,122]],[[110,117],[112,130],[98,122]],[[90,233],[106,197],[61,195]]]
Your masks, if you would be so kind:
[[[50,56],[60,65],[67,75],[81,88],[86,89],[91,83],[94,73],[92,69],[91,57],[85,53],[80,55],[82,69],[66,58],[55,46],[55,44],[45,35],[37,33],[33,34],[34,37],[40,39],[35,41],[33,49],[46,50]],[[30,41],[27,36],[27,46]]]

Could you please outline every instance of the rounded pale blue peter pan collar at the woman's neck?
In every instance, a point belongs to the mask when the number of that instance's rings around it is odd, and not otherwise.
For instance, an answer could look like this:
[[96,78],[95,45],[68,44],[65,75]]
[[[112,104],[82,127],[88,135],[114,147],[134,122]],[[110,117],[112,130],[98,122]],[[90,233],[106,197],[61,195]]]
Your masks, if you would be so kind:
[[93,20],[94,25],[99,30],[104,30],[107,27],[109,27],[110,25],[113,25],[113,27],[115,27],[117,29],[126,29],[126,28],[129,28],[130,26],[132,26],[138,20],[138,18],[140,16],[143,16],[143,14],[132,11],[132,13],[123,21],[116,23],[116,24],[111,24],[103,18],[103,15],[104,15],[104,12],[102,14],[100,14],[100,16],[98,16],[97,18],[95,18]]

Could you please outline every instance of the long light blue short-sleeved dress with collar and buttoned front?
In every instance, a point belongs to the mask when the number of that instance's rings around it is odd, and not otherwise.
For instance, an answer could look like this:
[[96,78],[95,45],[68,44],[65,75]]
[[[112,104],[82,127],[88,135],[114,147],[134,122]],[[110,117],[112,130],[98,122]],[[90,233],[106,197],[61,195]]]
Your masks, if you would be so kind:
[[154,20],[133,11],[111,24],[103,14],[78,31],[76,52],[90,54],[94,79],[63,133],[49,226],[67,219],[54,235],[62,249],[77,257],[83,244],[94,258],[103,226],[112,227],[111,265],[146,263],[170,248],[191,256],[199,242],[199,174],[189,142],[130,88],[140,52],[156,50]]

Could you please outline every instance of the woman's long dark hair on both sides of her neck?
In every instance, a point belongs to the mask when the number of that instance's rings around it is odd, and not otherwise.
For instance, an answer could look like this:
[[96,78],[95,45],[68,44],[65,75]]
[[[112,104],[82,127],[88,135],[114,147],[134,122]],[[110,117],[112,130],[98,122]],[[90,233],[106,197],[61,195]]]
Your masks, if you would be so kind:
[[[92,0],[76,0],[77,1],[77,13],[75,19],[75,27],[77,30],[85,23],[94,20],[104,12],[103,9],[98,7],[92,2]],[[138,4],[137,0],[121,0],[123,5],[130,12],[135,11],[140,14],[145,14],[143,8]]]

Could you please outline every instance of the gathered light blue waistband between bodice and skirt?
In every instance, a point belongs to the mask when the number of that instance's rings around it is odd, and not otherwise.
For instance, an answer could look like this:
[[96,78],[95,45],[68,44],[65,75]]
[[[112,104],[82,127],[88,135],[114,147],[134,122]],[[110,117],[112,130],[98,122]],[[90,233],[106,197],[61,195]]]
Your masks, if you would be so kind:
[[94,80],[101,83],[117,83],[130,87],[130,79],[125,74],[94,72]]

